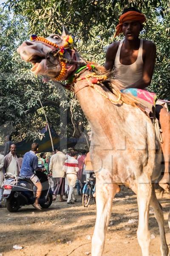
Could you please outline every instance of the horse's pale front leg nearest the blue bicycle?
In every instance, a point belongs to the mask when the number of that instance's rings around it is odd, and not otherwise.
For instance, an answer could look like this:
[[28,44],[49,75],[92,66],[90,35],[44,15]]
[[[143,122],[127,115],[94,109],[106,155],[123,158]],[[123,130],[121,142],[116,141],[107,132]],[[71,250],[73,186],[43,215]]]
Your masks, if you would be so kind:
[[113,197],[119,191],[119,186],[116,184],[98,183],[96,180],[96,224],[92,237],[91,256],[102,256]]

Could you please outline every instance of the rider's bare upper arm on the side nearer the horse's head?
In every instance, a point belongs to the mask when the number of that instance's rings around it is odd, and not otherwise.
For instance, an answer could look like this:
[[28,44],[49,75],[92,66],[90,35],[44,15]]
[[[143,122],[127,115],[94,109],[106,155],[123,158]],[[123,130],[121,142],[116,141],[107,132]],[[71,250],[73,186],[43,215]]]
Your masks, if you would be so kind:
[[106,70],[113,69],[118,46],[119,46],[119,42],[109,45],[109,47],[106,51],[106,61],[105,61],[105,69]]

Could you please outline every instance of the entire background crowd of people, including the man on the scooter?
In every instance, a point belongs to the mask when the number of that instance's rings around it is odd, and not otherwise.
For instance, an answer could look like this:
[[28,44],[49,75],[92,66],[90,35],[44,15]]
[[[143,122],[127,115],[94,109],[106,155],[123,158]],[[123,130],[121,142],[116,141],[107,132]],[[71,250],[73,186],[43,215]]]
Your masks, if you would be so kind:
[[53,191],[53,201],[67,202],[68,205],[77,202],[77,194],[82,195],[83,184],[93,171],[89,152],[85,150],[60,150],[56,148],[51,154],[41,152],[38,154],[38,144],[32,143],[31,150],[23,157],[17,157],[17,146],[11,137],[6,137],[4,154],[0,154],[0,208],[2,205],[3,179],[5,173],[26,177],[37,186],[34,207],[41,210],[38,200],[41,195],[42,185],[36,176],[36,171],[44,172],[48,176]]

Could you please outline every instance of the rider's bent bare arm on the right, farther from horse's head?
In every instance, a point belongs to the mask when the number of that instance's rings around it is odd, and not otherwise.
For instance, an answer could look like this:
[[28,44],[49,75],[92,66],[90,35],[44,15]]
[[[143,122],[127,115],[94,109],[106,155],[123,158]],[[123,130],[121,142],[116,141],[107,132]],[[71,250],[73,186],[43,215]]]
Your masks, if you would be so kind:
[[153,76],[153,70],[155,67],[156,60],[156,45],[150,41],[145,41],[143,46],[145,52],[144,66],[143,66],[143,77],[139,79],[134,84],[131,84],[127,88],[139,88],[144,89],[150,85]]

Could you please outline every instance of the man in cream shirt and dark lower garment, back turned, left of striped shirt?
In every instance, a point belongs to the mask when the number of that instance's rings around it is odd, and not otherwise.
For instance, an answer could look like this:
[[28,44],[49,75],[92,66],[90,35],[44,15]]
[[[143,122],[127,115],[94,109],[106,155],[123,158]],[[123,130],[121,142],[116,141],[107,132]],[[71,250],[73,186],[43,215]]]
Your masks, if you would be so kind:
[[57,148],[57,153],[51,156],[49,169],[52,172],[52,177],[54,180],[54,198],[53,201],[56,200],[56,196],[59,195],[59,201],[66,201],[63,199],[63,195],[65,195],[65,172],[62,170],[65,160],[67,157],[59,148]]

